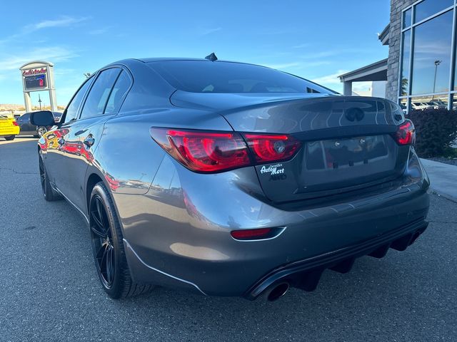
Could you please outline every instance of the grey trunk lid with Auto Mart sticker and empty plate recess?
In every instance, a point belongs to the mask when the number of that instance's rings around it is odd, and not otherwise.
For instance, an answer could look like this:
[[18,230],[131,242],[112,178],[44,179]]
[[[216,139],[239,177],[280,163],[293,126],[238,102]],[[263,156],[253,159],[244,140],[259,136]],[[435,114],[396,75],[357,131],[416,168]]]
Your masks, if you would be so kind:
[[403,112],[391,101],[314,94],[282,98],[257,94],[236,101],[228,96],[233,94],[194,95],[186,95],[186,105],[216,110],[219,101],[218,113],[233,130],[288,134],[301,142],[291,160],[256,165],[263,191],[273,202],[323,197],[387,182],[406,166],[409,147],[393,138],[404,120]]

